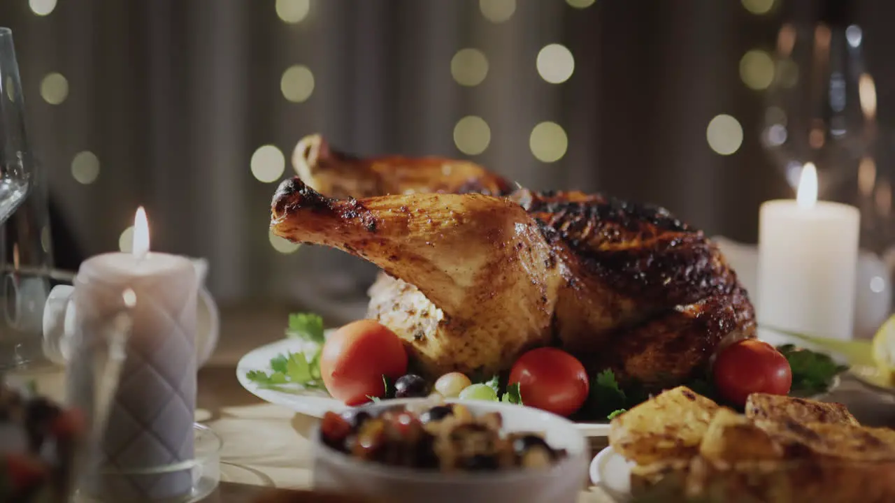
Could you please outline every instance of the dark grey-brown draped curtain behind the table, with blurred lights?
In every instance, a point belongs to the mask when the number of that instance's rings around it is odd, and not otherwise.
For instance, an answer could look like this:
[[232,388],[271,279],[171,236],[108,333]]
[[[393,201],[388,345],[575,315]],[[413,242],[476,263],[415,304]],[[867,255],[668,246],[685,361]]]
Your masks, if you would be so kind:
[[[739,60],[750,49],[772,51],[783,9],[750,13],[744,4],[756,2],[734,0],[573,4],[588,2],[4,0],[0,24],[13,28],[33,147],[81,248],[117,249],[145,205],[153,248],[207,257],[209,286],[225,302],[356,299],[370,281],[373,270],[359,260],[311,247],[277,252],[268,240],[270,197],[292,175],[296,141],[311,132],[359,154],[470,157],[532,188],[651,201],[708,233],[754,241],[759,203],[791,192],[760,147],[762,95],[740,80]],[[881,14],[893,7],[877,0],[863,9],[874,12],[865,46],[884,118],[895,75],[874,62],[895,42],[891,15]],[[567,81],[539,75],[536,59],[549,44],[574,56]],[[452,77],[464,48],[487,58],[478,85]],[[302,102],[281,90],[294,65],[313,75]],[[53,73],[64,79],[48,81]],[[300,79],[294,85],[306,93]],[[706,141],[720,114],[745,132],[727,156]],[[455,144],[466,115],[490,129],[479,155]],[[530,149],[545,121],[567,133],[565,150],[547,140],[563,154],[555,162]],[[285,155],[277,182],[252,175],[263,145]],[[265,167],[277,175],[272,152]]]

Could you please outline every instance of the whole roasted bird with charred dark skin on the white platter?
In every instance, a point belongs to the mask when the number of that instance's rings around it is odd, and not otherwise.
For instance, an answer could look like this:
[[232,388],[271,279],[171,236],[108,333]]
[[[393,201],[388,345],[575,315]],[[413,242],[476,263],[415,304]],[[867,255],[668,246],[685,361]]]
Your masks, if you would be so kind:
[[665,209],[532,192],[467,161],[356,158],[319,135],[293,163],[274,233],[379,266],[369,316],[430,377],[506,371],[525,350],[558,345],[589,371],[666,387],[754,337],[718,247]]

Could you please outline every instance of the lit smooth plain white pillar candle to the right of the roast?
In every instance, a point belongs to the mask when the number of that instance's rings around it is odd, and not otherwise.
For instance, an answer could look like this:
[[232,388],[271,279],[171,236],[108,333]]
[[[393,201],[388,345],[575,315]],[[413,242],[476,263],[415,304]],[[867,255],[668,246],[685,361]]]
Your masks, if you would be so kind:
[[817,200],[817,171],[810,163],[797,200],[765,202],[759,216],[759,324],[851,338],[859,225],[856,208]]

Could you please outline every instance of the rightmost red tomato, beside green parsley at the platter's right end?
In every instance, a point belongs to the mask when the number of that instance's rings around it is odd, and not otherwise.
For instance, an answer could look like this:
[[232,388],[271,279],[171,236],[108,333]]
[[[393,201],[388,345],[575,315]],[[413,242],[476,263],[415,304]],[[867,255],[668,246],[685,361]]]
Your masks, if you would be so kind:
[[786,395],[792,385],[792,370],[786,357],[760,340],[737,341],[715,359],[712,370],[715,388],[732,405],[746,405],[753,393]]

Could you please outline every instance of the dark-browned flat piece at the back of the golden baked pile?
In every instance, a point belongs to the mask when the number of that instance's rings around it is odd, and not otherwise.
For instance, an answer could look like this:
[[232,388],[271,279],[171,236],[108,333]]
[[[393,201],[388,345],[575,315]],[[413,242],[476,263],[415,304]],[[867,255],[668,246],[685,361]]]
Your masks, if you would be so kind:
[[827,422],[855,424],[857,419],[845,405],[818,402],[793,396],[753,393],[746,400],[746,417],[754,422]]

